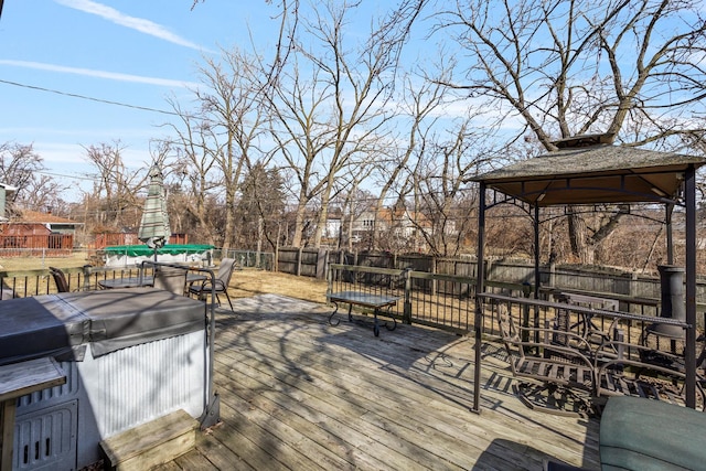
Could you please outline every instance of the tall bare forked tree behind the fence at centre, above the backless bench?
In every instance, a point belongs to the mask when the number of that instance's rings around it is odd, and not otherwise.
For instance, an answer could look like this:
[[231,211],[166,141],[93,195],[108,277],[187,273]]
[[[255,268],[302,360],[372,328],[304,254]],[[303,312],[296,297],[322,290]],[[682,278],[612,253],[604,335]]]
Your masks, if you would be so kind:
[[272,136],[297,175],[296,246],[314,199],[313,245],[320,245],[336,178],[353,159],[360,164],[363,156],[376,153],[398,57],[418,11],[414,4],[403,1],[362,43],[345,40],[360,2],[315,4],[306,19],[297,17],[298,32],[284,35],[292,40],[289,63],[270,82],[269,96],[277,119]]

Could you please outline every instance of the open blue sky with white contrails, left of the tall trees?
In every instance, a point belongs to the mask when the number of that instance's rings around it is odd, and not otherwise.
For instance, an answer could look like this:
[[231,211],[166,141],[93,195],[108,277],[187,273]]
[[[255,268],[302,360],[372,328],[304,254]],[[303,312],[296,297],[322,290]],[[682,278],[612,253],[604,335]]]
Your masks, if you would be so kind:
[[141,170],[171,117],[69,95],[165,111],[175,97],[188,108],[204,55],[249,49],[249,25],[274,38],[272,13],[263,0],[206,0],[193,10],[192,0],[6,0],[0,142],[32,143],[54,176],[82,176],[90,170],[84,147],[119,140],[126,164]]

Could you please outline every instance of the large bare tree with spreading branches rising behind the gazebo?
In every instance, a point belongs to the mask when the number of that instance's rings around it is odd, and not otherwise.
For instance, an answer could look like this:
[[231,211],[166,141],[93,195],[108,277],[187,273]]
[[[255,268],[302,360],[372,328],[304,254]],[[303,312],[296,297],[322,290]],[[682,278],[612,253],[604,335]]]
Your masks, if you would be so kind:
[[[439,30],[470,56],[448,82],[518,119],[546,150],[603,133],[608,142],[678,146],[703,137],[706,23],[691,0],[475,0],[442,11]],[[510,113],[513,111],[513,113]],[[501,111],[502,113],[502,111]],[[524,130],[512,138],[518,138]],[[620,217],[620,213],[616,213]],[[571,246],[591,263],[610,234],[571,218]],[[601,220],[602,224],[613,224]]]

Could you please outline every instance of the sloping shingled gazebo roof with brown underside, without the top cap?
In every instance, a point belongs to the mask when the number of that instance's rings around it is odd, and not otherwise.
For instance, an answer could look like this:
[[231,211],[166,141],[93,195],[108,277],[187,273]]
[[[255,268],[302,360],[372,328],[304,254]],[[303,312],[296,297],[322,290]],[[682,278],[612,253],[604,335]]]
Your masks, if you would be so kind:
[[472,179],[538,206],[677,200],[684,172],[706,159],[595,144],[560,149]]

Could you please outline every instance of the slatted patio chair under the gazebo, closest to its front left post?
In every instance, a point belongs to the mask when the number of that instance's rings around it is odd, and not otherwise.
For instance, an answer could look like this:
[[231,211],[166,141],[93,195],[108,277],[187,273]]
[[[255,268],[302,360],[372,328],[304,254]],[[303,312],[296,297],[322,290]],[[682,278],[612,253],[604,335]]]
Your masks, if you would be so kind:
[[[593,394],[593,362],[586,339],[570,332],[566,345],[553,342],[554,330],[517,327],[504,304],[498,306],[498,321],[512,374],[534,379],[515,386],[520,399],[533,409],[564,416],[587,415]],[[524,340],[523,339],[527,339]]]

